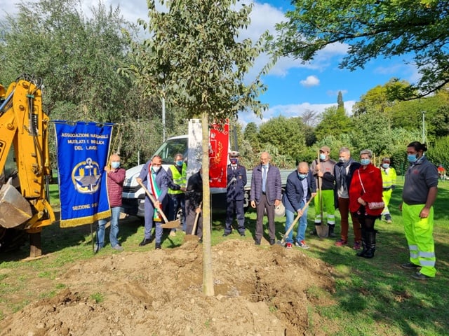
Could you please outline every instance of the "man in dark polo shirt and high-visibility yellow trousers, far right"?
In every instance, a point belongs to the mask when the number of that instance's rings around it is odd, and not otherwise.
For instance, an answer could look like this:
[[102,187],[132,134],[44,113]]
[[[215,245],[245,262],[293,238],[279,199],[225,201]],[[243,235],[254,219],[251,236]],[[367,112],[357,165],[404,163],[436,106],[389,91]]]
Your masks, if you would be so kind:
[[438,194],[438,172],[424,156],[427,145],[413,141],[407,146],[410,162],[402,193],[404,232],[410,250],[410,262],[404,269],[418,270],[413,279],[427,280],[436,274],[434,244],[434,207]]

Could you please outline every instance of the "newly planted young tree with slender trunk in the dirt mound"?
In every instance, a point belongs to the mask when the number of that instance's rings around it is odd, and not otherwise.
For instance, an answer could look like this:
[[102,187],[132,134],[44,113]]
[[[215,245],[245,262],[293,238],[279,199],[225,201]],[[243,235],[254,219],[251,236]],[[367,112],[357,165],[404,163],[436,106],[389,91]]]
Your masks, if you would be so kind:
[[[252,6],[235,8],[236,0],[161,1],[167,10],[156,10],[148,0],[149,32],[133,45],[133,73],[147,92],[157,94],[187,111],[187,118],[201,117],[203,127],[203,176],[209,175],[208,125],[236,118],[239,111],[257,116],[266,108],[258,99],[264,90],[259,78],[246,84],[246,73],[262,52],[262,41],[238,41],[250,24]],[[210,198],[208,179],[203,179],[203,293],[213,295],[210,248]]]

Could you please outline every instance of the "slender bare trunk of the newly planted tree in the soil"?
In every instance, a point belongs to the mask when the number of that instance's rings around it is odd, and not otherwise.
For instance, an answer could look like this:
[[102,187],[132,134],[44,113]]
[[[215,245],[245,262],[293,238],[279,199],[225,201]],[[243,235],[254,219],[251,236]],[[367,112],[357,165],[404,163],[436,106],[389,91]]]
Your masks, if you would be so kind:
[[201,115],[203,130],[203,294],[213,296],[212,252],[210,247],[210,188],[209,188],[209,123],[208,113]]

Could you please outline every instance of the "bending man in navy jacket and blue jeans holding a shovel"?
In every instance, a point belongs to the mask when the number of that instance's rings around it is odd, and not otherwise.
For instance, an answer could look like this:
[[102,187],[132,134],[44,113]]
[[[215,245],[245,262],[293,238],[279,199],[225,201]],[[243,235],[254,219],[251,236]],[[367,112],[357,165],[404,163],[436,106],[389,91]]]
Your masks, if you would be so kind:
[[[282,202],[286,207],[286,232],[293,223],[295,212],[301,216],[300,223],[297,225],[295,245],[307,249],[305,241],[305,232],[307,229],[307,209],[302,211],[304,204],[310,200],[310,197],[316,195],[316,184],[313,174],[309,169],[307,162],[300,162],[297,169],[290,173],[287,178],[286,192],[283,194]],[[292,248],[293,230],[290,231],[286,239],[286,248]]]

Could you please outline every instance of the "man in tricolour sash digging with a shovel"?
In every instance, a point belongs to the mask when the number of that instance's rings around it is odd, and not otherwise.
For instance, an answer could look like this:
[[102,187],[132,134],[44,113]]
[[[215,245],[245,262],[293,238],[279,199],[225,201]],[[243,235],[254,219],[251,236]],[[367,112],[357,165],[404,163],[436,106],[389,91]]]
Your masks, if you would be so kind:
[[139,246],[145,246],[153,241],[152,228],[153,223],[156,225],[156,244],[155,248],[161,248],[161,217],[155,207],[163,210],[167,205],[167,191],[168,191],[168,176],[167,172],[162,168],[162,158],[159,155],[154,155],[152,160],[145,163],[139,177],[138,183],[143,183],[148,189],[149,193],[153,195],[155,204],[145,196],[145,237],[140,242]]

